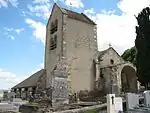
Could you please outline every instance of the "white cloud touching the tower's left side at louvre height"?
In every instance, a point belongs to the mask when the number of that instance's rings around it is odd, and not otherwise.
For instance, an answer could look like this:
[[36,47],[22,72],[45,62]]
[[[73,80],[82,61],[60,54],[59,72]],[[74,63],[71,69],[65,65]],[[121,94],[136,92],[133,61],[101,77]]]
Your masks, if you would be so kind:
[[33,36],[35,36],[37,39],[41,40],[43,44],[45,44],[46,25],[29,18],[25,19],[25,21],[33,29]]

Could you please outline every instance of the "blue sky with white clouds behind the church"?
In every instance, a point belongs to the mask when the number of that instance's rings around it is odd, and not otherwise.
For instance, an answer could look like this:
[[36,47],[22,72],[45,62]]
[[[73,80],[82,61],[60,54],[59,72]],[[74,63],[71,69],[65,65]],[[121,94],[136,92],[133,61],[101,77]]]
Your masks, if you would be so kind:
[[134,45],[133,15],[150,4],[149,0],[0,0],[0,89],[43,68],[45,26],[54,2],[87,14],[97,23],[99,50],[111,43],[120,54]]

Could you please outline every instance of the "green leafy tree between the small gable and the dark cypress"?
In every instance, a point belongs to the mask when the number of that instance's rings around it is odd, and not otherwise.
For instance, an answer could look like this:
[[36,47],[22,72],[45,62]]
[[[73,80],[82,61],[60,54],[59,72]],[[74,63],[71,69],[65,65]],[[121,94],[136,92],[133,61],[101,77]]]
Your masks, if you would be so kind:
[[125,50],[125,52],[121,55],[121,57],[125,61],[131,62],[134,66],[136,66],[136,48],[132,47],[130,49]]

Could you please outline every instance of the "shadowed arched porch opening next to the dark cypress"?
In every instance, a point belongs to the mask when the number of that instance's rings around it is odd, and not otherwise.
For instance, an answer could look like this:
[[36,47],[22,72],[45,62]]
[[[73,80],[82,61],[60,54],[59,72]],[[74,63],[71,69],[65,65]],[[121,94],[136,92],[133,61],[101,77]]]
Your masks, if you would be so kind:
[[136,70],[132,66],[124,66],[121,70],[121,91],[136,93],[137,92],[137,77]]

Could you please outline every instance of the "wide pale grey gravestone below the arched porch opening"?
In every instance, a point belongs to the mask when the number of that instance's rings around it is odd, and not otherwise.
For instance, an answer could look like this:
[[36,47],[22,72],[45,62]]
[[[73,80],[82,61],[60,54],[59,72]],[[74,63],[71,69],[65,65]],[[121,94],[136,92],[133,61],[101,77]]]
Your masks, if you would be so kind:
[[139,96],[134,93],[126,94],[126,106],[127,110],[134,109],[139,105]]

